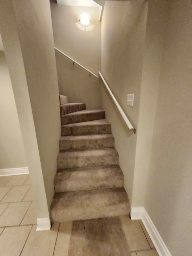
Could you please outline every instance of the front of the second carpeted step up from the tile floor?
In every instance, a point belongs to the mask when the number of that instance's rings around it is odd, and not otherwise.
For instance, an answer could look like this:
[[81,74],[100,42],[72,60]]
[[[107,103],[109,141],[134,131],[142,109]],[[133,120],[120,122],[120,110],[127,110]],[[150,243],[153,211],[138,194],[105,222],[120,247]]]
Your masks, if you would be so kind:
[[102,188],[122,188],[122,171],[64,171],[57,173],[54,179],[55,193],[67,191],[81,191]]

